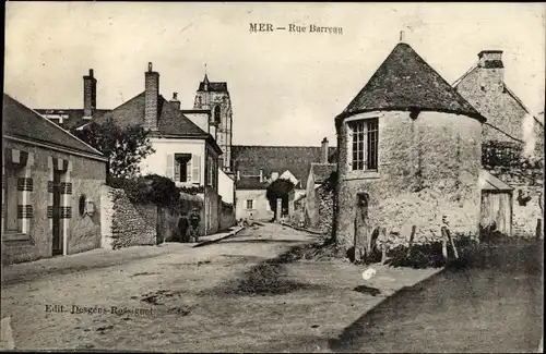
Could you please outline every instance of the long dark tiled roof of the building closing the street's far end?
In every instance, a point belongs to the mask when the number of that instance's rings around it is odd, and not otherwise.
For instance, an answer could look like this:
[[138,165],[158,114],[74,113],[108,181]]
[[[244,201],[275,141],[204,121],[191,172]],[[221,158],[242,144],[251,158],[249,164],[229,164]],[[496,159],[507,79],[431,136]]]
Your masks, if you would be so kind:
[[[329,150],[332,154],[335,147]],[[311,162],[320,162],[321,147],[234,145],[232,158],[240,173],[240,180],[236,181],[239,190],[266,188],[266,182],[260,183],[260,169],[265,179],[270,179],[272,172],[281,175],[288,170],[300,181],[297,187],[305,190]]]

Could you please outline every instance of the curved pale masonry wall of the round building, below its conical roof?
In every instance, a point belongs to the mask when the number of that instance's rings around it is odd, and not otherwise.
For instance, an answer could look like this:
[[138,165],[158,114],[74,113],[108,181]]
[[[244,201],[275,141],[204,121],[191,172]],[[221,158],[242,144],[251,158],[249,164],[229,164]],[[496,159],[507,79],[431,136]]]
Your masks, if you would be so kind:
[[370,197],[369,227],[387,228],[395,244],[407,243],[412,225],[417,227],[416,243],[439,237],[443,215],[452,233],[476,235],[482,124],[440,112],[422,112],[415,121],[407,112],[378,115],[377,172],[351,171],[347,127],[339,127],[339,243],[354,246],[359,192]]

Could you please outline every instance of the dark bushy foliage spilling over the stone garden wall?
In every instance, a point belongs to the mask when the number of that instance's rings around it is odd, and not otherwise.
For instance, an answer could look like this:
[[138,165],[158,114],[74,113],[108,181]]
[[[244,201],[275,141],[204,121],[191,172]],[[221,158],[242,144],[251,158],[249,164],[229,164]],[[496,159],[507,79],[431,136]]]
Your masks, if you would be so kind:
[[122,188],[133,203],[169,206],[180,199],[180,188],[170,179],[147,174],[136,179],[110,178],[108,185]]

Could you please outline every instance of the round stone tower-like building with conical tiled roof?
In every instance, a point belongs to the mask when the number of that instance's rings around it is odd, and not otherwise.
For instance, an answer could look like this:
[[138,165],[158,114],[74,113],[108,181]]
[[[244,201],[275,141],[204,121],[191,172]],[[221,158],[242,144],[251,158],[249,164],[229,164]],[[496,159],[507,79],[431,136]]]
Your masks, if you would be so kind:
[[[334,232],[360,257],[372,235],[406,244],[476,235],[486,119],[408,44],[399,42],[335,118]],[[384,232],[382,231],[384,230]]]

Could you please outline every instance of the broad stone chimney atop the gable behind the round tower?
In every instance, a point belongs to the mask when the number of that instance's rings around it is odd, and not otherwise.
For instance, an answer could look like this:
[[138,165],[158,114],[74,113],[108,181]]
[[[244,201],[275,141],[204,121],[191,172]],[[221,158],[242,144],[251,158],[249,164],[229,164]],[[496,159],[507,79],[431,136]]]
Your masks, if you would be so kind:
[[505,90],[502,50],[482,50],[478,58],[478,68],[482,68],[482,90],[502,93]]

